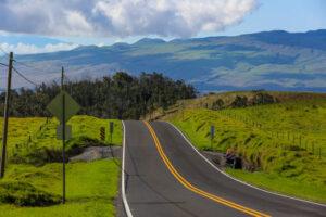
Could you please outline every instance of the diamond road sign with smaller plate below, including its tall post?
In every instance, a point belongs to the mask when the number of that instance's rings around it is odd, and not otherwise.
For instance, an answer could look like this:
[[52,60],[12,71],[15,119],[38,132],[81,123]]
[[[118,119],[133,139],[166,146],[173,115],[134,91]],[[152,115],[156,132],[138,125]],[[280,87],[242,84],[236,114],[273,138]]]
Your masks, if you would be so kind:
[[47,108],[60,120],[57,128],[57,138],[62,139],[62,203],[65,203],[65,140],[71,138],[72,127],[66,122],[74,116],[80,106],[63,89],[64,69],[61,74],[61,92],[50,102]]

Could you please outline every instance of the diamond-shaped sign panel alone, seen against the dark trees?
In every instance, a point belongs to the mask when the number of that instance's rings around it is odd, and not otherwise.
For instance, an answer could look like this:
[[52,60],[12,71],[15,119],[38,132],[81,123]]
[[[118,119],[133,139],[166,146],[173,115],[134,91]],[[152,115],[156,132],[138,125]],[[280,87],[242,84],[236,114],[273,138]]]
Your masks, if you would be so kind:
[[72,116],[77,114],[80,110],[78,103],[65,91],[61,91],[47,106],[47,108],[54,115],[60,122],[62,122],[63,114],[63,95],[65,100],[65,122],[67,122]]

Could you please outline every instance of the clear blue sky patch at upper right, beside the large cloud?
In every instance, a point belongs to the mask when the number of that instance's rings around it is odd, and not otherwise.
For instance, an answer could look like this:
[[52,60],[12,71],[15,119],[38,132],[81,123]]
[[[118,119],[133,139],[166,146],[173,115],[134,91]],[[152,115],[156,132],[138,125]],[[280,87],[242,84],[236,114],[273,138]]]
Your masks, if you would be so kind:
[[326,28],[325,0],[261,0],[240,25],[216,35],[240,35],[264,30],[308,31]]

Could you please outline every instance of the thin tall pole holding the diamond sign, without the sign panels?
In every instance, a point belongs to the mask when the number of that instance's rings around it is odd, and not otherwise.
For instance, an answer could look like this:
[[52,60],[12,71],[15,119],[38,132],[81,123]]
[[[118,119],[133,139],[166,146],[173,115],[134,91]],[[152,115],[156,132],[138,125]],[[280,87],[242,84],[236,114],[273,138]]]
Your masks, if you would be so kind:
[[[64,68],[61,71],[61,90],[63,91]],[[65,204],[65,94],[62,94],[62,203]]]

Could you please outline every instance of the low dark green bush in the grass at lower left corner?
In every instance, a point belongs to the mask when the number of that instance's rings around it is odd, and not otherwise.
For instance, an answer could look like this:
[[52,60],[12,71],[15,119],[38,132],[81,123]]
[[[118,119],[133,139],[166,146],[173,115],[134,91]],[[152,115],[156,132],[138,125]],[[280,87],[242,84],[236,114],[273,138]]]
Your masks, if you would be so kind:
[[49,206],[61,202],[59,195],[50,194],[26,182],[1,182],[0,203],[17,206]]

